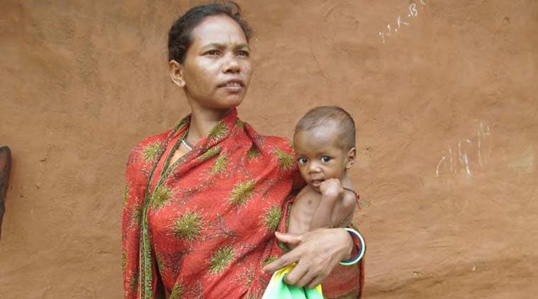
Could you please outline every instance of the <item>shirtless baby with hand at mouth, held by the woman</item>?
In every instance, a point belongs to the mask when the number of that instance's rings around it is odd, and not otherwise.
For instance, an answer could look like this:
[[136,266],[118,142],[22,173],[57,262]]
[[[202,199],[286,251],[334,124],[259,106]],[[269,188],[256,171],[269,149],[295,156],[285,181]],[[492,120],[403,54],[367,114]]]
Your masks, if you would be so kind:
[[301,118],[293,136],[306,186],[291,206],[288,232],[351,224],[357,193],[347,175],[355,162],[355,124],[344,109],[323,106]]

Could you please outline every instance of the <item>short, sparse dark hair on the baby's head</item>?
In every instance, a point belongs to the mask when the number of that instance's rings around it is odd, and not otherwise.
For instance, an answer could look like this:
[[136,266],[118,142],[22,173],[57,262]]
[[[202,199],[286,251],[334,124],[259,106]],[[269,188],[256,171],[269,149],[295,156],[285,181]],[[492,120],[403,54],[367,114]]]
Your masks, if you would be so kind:
[[345,150],[355,147],[355,122],[351,115],[337,106],[320,106],[308,111],[295,127],[295,133],[335,125],[339,130],[339,143]]

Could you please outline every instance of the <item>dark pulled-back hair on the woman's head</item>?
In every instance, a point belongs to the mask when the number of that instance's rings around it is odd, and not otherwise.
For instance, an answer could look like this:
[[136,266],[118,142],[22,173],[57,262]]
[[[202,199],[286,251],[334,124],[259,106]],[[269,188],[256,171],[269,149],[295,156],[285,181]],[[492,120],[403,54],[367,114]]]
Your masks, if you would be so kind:
[[183,16],[180,16],[168,33],[168,60],[176,60],[183,63],[185,54],[193,37],[192,30],[208,16],[225,15],[232,18],[243,30],[247,42],[250,40],[252,30],[248,23],[241,18],[241,8],[239,4],[233,1],[224,1],[223,3],[206,4],[189,9]]

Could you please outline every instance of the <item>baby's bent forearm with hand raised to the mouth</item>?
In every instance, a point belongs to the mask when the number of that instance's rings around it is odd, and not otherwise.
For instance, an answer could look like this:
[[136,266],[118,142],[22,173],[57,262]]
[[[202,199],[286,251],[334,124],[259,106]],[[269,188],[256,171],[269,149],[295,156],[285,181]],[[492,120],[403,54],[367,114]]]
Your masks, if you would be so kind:
[[339,179],[327,179],[320,185],[321,201],[310,220],[310,230],[333,227],[332,215],[344,189]]

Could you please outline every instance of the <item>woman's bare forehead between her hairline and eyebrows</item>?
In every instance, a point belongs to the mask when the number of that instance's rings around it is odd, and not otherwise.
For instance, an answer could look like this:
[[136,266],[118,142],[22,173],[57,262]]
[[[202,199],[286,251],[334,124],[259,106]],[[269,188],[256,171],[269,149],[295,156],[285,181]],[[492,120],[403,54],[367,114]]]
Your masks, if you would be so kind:
[[237,45],[247,44],[241,26],[228,16],[208,16],[192,30],[193,45]]

